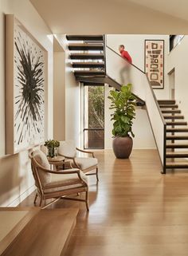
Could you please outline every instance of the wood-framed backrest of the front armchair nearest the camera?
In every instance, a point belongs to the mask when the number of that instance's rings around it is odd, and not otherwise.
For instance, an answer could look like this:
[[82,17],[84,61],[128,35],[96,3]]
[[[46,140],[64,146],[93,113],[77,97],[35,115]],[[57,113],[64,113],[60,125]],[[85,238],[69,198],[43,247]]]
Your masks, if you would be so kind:
[[41,150],[34,150],[29,154],[31,159],[31,167],[33,171],[33,177],[36,182],[37,187],[44,187],[46,183],[51,181],[51,173],[45,172],[41,169],[50,169],[49,161],[45,156],[45,153],[41,152]]

